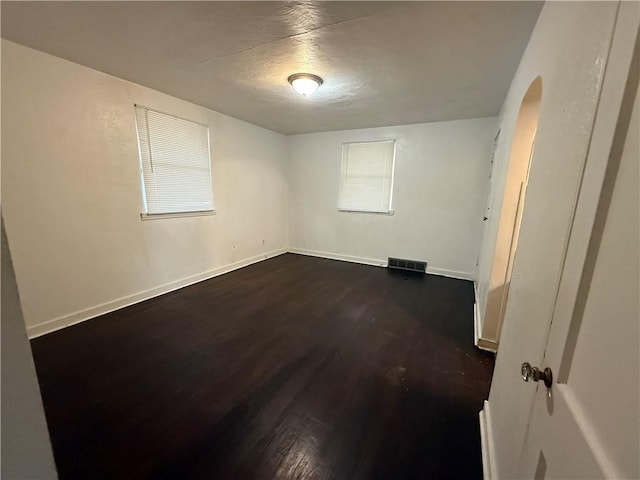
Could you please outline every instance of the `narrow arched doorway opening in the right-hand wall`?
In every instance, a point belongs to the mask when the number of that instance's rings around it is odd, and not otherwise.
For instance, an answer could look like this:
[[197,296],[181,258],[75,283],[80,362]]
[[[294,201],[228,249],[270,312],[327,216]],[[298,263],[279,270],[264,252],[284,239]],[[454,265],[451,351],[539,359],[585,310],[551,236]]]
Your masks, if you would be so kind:
[[485,321],[489,320],[496,325],[497,341],[500,339],[509,296],[511,271],[518,247],[541,99],[542,78],[537,77],[531,82],[522,98],[516,120],[484,313]]

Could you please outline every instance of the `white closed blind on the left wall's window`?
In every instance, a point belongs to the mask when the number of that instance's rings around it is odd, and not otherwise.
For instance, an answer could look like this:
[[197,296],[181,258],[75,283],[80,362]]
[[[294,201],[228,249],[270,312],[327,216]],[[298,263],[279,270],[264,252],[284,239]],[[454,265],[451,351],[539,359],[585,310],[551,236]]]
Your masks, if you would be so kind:
[[147,215],[213,211],[209,127],[135,106]]

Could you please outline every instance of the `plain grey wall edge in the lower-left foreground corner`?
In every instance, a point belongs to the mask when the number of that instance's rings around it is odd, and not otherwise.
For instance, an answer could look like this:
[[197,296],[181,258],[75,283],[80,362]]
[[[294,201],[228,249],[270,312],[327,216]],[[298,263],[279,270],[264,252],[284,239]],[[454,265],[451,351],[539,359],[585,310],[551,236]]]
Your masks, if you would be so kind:
[[2,478],[58,478],[2,225]]

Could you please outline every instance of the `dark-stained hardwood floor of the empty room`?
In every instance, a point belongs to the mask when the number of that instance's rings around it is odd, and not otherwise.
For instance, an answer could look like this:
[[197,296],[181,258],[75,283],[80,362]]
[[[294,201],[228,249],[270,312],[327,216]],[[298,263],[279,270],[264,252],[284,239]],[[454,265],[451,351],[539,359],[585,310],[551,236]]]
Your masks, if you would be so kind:
[[60,478],[482,478],[473,301],[286,254],[37,338]]

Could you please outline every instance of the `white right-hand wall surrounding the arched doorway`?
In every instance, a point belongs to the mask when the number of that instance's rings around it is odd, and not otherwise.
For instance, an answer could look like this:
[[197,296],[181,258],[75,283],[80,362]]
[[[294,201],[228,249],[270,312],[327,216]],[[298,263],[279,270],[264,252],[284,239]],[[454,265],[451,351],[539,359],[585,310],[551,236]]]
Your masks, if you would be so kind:
[[[495,478],[518,476],[518,462],[535,387],[522,382],[522,362],[545,367],[543,357],[556,306],[591,131],[605,78],[618,5],[613,2],[547,2],[538,19],[500,115],[498,175],[504,185],[522,98],[542,78],[535,150],[509,289],[500,348],[489,395],[487,431]],[[599,107],[598,107],[599,108]],[[498,197],[501,192],[497,192]],[[493,219],[497,221],[497,219]],[[489,282],[495,232],[480,257],[479,284]],[[487,288],[480,291],[487,292]],[[481,302],[486,297],[480,298]],[[485,319],[484,326],[487,326]]]

